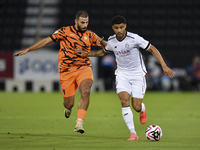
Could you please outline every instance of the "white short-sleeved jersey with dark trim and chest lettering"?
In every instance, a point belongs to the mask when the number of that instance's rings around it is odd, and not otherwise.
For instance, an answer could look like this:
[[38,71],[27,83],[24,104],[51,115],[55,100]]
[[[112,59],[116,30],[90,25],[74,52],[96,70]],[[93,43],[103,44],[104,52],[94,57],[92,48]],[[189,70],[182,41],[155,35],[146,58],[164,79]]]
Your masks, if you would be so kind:
[[119,41],[116,35],[110,36],[104,51],[114,52],[117,72],[130,71],[134,75],[145,75],[147,71],[139,48],[148,50],[149,47],[149,41],[137,34],[127,32],[122,41]]

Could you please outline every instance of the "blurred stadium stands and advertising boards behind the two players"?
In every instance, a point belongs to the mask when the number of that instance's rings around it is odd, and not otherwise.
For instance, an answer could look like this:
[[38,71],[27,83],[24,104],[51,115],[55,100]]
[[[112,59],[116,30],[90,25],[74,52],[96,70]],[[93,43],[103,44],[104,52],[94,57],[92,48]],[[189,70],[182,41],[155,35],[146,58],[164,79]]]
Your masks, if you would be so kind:
[[[59,91],[59,43],[13,58],[16,51],[74,24],[78,10],[89,13],[89,29],[100,37],[113,34],[111,19],[123,15],[127,30],[149,40],[163,55],[175,78],[141,50],[148,69],[147,90],[200,91],[199,0],[1,0],[0,90]],[[93,50],[97,48],[93,47]],[[91,58],[92,91],[115,90],[113,55]]]

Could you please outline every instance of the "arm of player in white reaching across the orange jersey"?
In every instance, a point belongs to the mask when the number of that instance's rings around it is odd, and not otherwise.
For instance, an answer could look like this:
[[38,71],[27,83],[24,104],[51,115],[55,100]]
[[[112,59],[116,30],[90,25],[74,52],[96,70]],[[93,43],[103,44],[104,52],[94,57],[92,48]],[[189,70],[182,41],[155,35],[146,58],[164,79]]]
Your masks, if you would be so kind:
[[75,49],[75,53],[78,55],[78,56],[81,56],[81,57],[102,57],[102,56],[105,56],[107,55],[108,53],[106,53],[103,49],[100,49],[98,51],[95,51],[95,52],[90,52],[90,53],[85,53],[82,49]]

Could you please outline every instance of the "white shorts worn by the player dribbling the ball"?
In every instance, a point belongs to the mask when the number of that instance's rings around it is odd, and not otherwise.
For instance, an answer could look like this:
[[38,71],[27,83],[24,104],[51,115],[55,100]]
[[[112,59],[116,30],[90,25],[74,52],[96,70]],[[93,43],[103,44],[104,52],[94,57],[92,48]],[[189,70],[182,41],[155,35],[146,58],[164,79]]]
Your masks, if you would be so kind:
[[116,73],[117,94],[126,91],[132,97],[143,99],[146,92],[145,76],[134,76],[132,73]]

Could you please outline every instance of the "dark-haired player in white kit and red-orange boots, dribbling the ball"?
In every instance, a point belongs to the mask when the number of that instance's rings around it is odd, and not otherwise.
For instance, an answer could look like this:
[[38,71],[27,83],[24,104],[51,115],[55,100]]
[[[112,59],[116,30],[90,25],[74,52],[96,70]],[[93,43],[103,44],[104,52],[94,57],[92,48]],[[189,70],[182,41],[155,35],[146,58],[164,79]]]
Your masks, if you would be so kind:
[[112,19],[112,29],[115,34],[108,38],[107,44],[103,43],[104,50],[85,53],[83,50],[77,49],[75,52],[82,57],[100,57],[111,51],[115,54],[117,62],[116,90],[121,100],[123,119],[131,133],[128,140],[139,140],[130,108],[131,97],[133,109],[140,113],[141,124],[145,124],[147,115],[142,101],[146,91],[145,74],[147,71],[139,48],[151,52],[160,62],[166,75],[173,78],[174,72],[167,67],[159,51],[149,41],[126,31],[126,19],[123,16],[118,15]]

